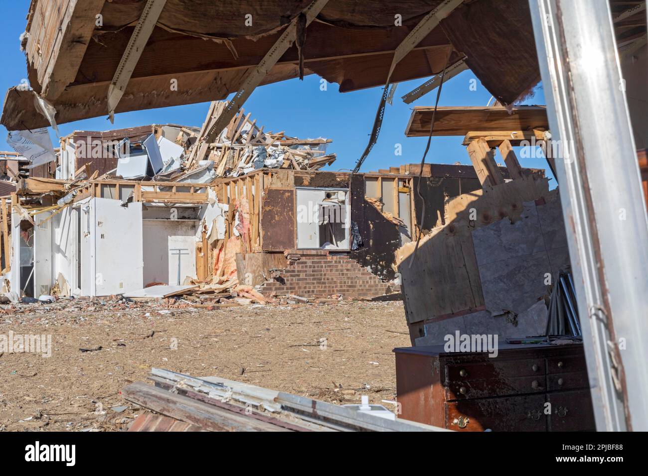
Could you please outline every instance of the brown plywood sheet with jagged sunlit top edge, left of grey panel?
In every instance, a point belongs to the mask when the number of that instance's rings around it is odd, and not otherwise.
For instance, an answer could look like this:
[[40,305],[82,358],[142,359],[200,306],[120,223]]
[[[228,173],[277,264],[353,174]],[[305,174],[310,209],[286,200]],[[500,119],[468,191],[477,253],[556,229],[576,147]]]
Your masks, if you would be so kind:
[[[397,251],[408,323],[485,309],[472,231],[503,218],[515,223],[525,202],[554,198],[547,179],[530,176],[449,199],[445,225],[421,239],[413,262],[414,243]],[[413,339],[421,337],[416,334],[420,330],[421,326],[413,328]]]

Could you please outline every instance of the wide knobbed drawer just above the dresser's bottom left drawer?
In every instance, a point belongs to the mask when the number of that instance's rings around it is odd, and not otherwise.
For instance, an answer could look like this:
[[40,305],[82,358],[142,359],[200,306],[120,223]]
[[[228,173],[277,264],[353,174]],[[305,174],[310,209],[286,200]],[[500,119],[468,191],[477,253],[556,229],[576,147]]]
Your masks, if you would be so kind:
[[492,396],[541,393],[547,390],[546,377],[502,377],[489,379],[467,379],[446,385],[446,400],[468,400]]

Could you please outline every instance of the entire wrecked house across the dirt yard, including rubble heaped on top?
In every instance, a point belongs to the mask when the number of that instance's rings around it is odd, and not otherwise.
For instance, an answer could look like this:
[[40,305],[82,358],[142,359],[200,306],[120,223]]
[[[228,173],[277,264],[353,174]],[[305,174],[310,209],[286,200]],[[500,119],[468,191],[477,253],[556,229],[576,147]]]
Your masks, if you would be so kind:
[[207,143],[225,107],[213,102],[202,128],[62,137],[52,173],[16,177],[3,198],[5,291],[221,296],[247,286],[257,300],[369,299],[399,289],[397,250],[443,221],[445,201],[481,187],[465,165],[322,172],[335,159],[330,139],[264,132],[244,111]]

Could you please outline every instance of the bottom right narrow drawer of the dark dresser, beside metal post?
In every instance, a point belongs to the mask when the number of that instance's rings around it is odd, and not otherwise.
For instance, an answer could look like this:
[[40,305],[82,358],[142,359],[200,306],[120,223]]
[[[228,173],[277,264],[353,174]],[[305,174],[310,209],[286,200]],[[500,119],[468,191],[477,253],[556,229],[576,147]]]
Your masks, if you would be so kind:
[[596,431],[590,390],[551,393],[550,431]]

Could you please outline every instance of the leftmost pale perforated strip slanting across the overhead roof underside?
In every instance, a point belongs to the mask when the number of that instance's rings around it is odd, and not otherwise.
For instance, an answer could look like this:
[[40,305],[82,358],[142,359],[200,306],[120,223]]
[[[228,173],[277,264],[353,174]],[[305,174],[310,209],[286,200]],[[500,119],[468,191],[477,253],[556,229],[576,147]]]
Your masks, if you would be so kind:
[[135,30],[128,40],[126,50],[122,54],[119,66],[115,70],[113,80],[108,86],[108,117],[112,123],[115,117],[115,108],[119,104],[128,86],[128,80],[137,66],[139,57],[141,56],[148,38],[156,26],[157,19],[159,18],[162,10],[167,3],[167,0],[148,0],[144,6],[139,21],[135,25]]

